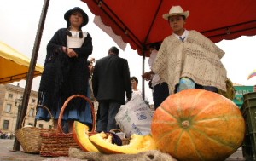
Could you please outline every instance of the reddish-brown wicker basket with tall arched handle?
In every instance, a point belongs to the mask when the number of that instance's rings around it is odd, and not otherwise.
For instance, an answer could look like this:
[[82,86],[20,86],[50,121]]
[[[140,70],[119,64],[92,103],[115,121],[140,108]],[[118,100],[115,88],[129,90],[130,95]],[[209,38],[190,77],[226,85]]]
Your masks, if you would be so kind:
[[59,157],[59,156],[68,156],[68,150],[70,147],[79,148],[79,145],[73,139],[73,133],[65,134],[61,127],[61,121],[63,117],[64,110],[69,101],[74,98],[83,98],[85,101],[88,101],[90,104],[91,112],[92,112],[92,129],[95,129],[95,113],[94,107],[89,98],[84,95],[72,95],[67,98],[61,107],[60,116],[58,119],[58,128],[56,133],[41,133],[42,137],[42,147],[40,151],[40,155],[44,157]]

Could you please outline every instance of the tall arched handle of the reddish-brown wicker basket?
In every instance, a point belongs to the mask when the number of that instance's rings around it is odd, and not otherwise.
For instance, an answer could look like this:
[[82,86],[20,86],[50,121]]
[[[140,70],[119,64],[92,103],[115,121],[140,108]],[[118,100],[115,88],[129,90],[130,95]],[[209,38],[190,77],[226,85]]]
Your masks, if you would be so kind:
[[68,102],[71,101],[74,98],[77,98],[77,97],[83,98],[85,101],[87,101],[90,104],[90,109],[91,109],[91,114],[92,114],[92,131],[91,132],[95,132],[95,124],[96,124],[95,120],[96,120],[96,118],[95,118],[94,106],[91,103],[90,99],[88,97],[84,96],[84,95],[71,95],[64,102],[63,106],[61,107],[61,112],[60,112],[60,116],[59,116],[59,119],[58,119],[58,129],[57,129],[57,132],[64,133],[63,129],[62,129],[62,126],[61,126],[61,121],[62,121],[62,118],[63,118],[64,110],[67,107]]

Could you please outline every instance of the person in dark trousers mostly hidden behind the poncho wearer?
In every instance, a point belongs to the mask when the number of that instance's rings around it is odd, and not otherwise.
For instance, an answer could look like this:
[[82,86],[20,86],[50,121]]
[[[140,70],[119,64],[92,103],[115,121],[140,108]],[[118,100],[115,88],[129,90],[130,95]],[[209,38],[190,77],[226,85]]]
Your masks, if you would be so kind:
[[[156,58],[156,55],[158,53],[158,50],[160,49],[160,43],[152,43],[149,46],[150,50],[150,57],[148,59],[148,64],[150,69],[154,65],[154,60]],[[142,75],[143,78],[146,80],[151,81],[150,86],[153,90],[153,101],[154,101],[154,109],[156,110],[160,104],[166,100],[166,98],[169,96],[169,89],[166,82],[162,82],[160,80],[160,76],[158,74],[154,74],[154,72],[151,70],[149,72],[145,72]]]

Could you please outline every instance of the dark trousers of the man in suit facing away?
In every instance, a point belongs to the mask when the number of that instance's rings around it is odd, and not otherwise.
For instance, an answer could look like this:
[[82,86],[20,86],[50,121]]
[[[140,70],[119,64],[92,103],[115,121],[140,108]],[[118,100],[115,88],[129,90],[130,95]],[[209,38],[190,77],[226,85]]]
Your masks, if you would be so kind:
[[99,101],[97,111],[96,131],[110,131],[117,129],[115,116],[119,112],[121,104],[117,101]]

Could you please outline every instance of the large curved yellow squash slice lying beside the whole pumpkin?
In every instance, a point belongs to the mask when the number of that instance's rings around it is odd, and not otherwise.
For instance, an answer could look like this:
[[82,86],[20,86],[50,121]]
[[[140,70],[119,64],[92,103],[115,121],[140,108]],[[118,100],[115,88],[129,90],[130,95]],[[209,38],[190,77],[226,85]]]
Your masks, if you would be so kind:
[[112,144],[112,136],[104,132],[91,135],[89,139],[100,152],[107,154],[135,154],[156,149],[151,135],[131,135],[130,143],[124,146]]

